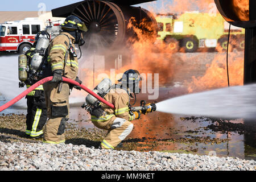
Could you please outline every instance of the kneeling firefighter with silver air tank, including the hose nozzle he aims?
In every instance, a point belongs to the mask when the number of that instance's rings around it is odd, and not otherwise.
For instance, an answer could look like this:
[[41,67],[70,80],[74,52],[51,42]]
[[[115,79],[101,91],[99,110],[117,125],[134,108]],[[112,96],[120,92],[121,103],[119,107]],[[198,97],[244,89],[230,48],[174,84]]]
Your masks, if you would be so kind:
[[123,73],[123,77],[118,81],[119,84],[112,85],[110,79],[105,78],[93,90],[106,101],[112,103],[114,109],[91,95],[86,97],[85,105],[82,106],[91,114],[91,121],[94,126],[109,131],[106,138],[101,142],[100,148],[104,149],[121,147],[122,140],[133,130],[131,121],[139,119],[141,114],[147,114],[155,110],[151,105],[138,107],[139,109],[130,105],[130,97],[133,97],[132,93],[136,97],[136,93],[140,92],[139,81],[141,81],[141,77],[138,71],[129,69]]

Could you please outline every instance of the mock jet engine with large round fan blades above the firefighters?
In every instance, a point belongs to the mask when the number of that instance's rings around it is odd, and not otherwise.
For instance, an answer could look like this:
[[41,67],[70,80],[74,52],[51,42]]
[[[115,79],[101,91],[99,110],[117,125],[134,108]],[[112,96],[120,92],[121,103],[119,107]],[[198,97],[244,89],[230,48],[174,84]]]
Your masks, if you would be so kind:
[[[102,52],[106,48],[116,49],[121,45],[125,46],[127,38],[135,36],[131,30],[126,28],[131,17],[134,17],[138,24],[142,19],[146,19],[147,22],[154,23],[157,27],[156,20],[149,11],[131,6],[150,1],[155,0],[86,0],[53,9],[52,15],[55,17],[78,16],[88,27],[88,32],[84,34],[85,48]],[[156,28],[154,33],[157,34]]]

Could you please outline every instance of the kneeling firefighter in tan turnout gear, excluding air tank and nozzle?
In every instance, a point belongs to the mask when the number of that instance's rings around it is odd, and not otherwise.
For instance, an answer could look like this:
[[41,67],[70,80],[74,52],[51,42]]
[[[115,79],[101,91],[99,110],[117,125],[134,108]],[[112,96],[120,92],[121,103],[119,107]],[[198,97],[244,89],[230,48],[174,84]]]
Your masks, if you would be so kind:
[[121,147],[122,140],[133,130],[131,121],[141,117],[141,111],[129,111],[131,93],[140,92],[139,81],[141,78],[139,72],[130,69],[123,74],[119,81],[120,83],[104,96],[104,99],[112,103],[115,109],[101,103],[101,107],[96,107],[91,113],[91,121],[94,126],[109,131],[106,138],[101,142],[100,148]]

